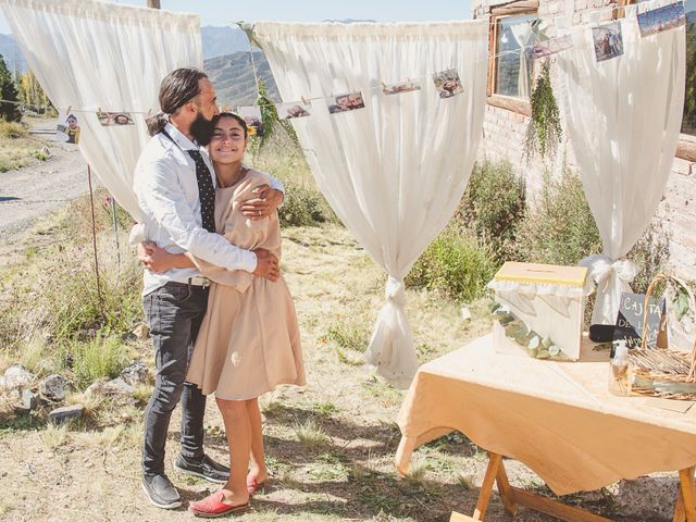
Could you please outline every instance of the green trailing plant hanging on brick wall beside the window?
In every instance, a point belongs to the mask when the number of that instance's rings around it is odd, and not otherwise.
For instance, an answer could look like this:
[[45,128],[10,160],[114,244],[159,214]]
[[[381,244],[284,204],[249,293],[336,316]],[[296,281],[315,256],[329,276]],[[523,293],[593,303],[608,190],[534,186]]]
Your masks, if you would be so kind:
[[563,134],[549,73],[550,61],[546,60],[532,91],[532,117],[526,128],[522,152],[527,163],[537,153],[542,159],[554,158]]

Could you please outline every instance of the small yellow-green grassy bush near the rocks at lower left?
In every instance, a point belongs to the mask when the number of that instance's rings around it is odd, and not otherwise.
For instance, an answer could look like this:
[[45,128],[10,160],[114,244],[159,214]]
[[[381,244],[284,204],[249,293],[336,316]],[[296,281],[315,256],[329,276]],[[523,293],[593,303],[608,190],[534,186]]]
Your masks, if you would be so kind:
[[128,349],[115,338],[97,336],[87,343],[75,341],[70,347],[72,370],[79,388],[101,377],[114,378],[130,362]]

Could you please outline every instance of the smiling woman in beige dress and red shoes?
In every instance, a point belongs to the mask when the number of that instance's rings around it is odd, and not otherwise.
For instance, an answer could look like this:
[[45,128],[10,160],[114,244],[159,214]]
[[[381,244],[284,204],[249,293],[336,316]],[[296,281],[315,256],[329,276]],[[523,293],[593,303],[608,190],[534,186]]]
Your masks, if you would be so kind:
[[[277,212],[260,220],[241,215],[241,204],[269,176],[241,163],[247,126],[240,116],[215,119],[209,146],[215,167],[215,226],[233,245],[264,248],[281,258]],[[196,339],[187,381],[215,394],[229,445],[229,480],[189,509],[219,517],[248,506],[250,494],[268,478],[258,397],[278,384],[304,384],[297,316],[290,293],[276,282],[244,271],[227,271],[191,254],[172,256],[177,266],[194,263],[211,279],[208,312]],[[250,465],[249,465],[250,462]]]

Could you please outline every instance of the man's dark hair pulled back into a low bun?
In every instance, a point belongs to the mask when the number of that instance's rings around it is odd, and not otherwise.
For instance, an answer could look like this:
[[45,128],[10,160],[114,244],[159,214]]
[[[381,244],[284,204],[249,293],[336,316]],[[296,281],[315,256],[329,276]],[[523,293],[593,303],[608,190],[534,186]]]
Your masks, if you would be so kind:
[[170,114],[200,95],[199,80],[208,75],[194,67],[183,67],[167,74],[160,84],[160,108],[154,116],[148,117],[148,133],[154,136],[164,130]]

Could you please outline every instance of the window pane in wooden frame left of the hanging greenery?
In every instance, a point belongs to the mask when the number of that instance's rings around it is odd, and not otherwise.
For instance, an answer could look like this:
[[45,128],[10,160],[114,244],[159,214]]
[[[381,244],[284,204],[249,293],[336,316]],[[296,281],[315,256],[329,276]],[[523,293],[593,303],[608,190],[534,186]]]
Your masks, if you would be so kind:
[[495,17],[494,71],[490,94],[530,99],[534,62],[529,46],[535,41],[532,24],[536,20],[536,13]]

